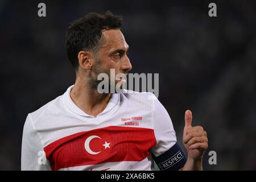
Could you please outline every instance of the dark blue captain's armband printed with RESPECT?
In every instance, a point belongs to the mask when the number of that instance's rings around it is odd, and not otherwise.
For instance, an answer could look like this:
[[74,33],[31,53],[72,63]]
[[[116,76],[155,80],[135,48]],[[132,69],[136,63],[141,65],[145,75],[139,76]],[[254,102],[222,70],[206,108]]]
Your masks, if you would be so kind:
[[164,154],[157,157],[152,155],[152,158],[158,164],[160,170],[168,171],[177,171],[187,162],[187,157],[177,143],[168,151],[164,152]]

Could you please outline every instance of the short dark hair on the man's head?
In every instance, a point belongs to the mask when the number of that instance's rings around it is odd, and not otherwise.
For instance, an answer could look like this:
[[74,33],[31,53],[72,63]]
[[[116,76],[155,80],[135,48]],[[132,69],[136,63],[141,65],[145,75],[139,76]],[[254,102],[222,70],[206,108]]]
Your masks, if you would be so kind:
[[95,53],[102,39],[102,30],[121,29],[122,24],[122,16],[114,15],[110,11],[103,15],[89,13],[72,22],[65,35],[65,49],[75,71],[79,67],[78,53],[82,50]]

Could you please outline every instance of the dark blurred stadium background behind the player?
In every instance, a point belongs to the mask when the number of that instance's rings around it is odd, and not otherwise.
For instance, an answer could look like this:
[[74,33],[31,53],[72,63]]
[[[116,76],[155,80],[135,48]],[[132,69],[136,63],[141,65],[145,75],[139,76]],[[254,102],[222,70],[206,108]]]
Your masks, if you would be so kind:
[[[38,17],[44,2],[47,17]],[[208,16],[210,2],[217,18]],[[131,73],[159,73],[159,100],[179,143],[184,111],[208,131],[207,170],[256,169],[256,1],[0,0],[0,169],[19,170],[28,113],[75,81],[68,23],[89,12],[123,15]],[[217,165],[208,152],[217,152]]]

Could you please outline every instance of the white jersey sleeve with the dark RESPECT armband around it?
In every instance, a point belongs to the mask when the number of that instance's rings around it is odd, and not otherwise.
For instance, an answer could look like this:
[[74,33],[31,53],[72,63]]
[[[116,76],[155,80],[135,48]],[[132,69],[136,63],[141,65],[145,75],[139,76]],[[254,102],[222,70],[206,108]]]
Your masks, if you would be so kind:
[[157,98],[154,100],[152,114],[156,139],[156,145],[151,150],[152,158],[160,170],[179,170],[187,162],[187,157],[177,144],[170,115]]

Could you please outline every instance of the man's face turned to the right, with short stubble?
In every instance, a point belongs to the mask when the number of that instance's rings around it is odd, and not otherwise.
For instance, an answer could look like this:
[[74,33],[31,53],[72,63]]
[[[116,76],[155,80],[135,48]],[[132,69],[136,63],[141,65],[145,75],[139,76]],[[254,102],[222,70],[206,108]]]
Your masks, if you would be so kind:
[[[125,42],[122,32],[120,30],[105,30],[102,34],[104,36],[104,43],[97,53],[93,72],[96,75],[106,73],[110,78],[110,69],[114,69],[115,76],[118,73],[125,73],[127,75],[127,72],[132,67],[127,57],[129,46]],[[115,85],[119,81],[115,80]]]

